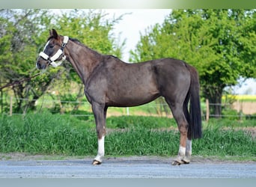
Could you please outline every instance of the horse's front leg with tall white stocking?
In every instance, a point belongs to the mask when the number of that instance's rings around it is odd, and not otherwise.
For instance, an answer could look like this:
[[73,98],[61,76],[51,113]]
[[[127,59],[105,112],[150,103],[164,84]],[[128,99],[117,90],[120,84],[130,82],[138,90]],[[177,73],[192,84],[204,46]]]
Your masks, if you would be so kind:
[[103,104],[99,104],[97,102],[92,103],[92,109],[94,112],[94,118],[97,129],[97,137],[98,137],[98,153],[92,162],[93,165],[100,165],[103,162],[103,157],[105,153],[104,148],[104,138],[106,135],[106,111],[107,108]]

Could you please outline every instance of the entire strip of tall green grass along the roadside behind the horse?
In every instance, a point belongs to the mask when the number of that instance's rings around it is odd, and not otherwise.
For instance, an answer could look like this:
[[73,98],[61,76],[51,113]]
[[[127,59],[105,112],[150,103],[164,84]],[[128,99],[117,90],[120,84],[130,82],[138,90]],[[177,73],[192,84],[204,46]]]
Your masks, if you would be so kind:
[[[255,158],[256,141],[236,126],[222,128],[222,120],[204,124],[204,137],[193,141],[193,155]],[[106,136],[106,156],[176,156],[180,135],[174,120],[165,117],[109,117],[113,130]],[[228,121],[226,121],[228,123]],[[241,122],[242,123],[242,122]],[[246,126],[243,122],[240,126]],[[251,124],[249,122],[248,124]],[[121,130],[123,129],[123,130]],[[67,114],[0,116],[0,153],[95,156],[97,135],[93,120]]]

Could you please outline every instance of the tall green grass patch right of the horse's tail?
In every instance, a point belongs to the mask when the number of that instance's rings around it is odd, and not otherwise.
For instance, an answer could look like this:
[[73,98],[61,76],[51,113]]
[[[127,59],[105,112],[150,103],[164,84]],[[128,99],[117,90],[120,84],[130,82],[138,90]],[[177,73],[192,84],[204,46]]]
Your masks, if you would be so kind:
[[249,132],[208,127],[204,137],[194,141],[193,154],[201,156],[256,156],[256,141]]

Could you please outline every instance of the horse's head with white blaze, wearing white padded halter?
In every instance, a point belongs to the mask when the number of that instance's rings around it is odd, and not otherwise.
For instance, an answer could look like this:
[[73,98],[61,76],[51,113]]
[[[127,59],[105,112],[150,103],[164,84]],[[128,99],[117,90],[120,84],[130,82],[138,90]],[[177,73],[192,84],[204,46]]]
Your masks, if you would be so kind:
[[58,35],[55,29],[49,31],[49,34],[46,46],[44,46],[43,52],[40,52],[37,58],[36,65],[39,70],[46,69],[49,65],[58,67],[66,59],[64,48],[67,45],[68,37]]

